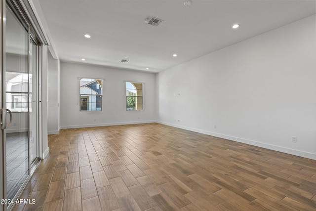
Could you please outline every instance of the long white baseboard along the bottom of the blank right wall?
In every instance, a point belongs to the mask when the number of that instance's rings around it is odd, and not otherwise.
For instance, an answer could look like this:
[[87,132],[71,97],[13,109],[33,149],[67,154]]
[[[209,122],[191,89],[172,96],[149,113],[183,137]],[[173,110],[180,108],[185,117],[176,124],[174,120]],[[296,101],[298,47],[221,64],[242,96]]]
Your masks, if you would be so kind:
[[248,140],[248,139],[244,139],[244,138],[239,138],[239,137],[235,137],[235,136],[225,135],[225,134],[221,134],[221,133],[210,132],[210,131],[201,130],[201,129],[197,129],[197,128],[192,128],[192,127],[185,127],[185,126],[174,125],[174,124],[160,122],[160,121],[156,121],[156,123],[159,123],[159,124],[162,124],[162,125],[171,126],[171,127],[178,127],[178,128],[181,128],[181,129],[186,129],[186,130],[199,132],[199,133],[203,133],[203,134],[207,134],[207,135],[211,135],[211,136],[215,136],[215,137],[219,137],[219,138],[225,138],[225,139],[232,140],[232,141],[237,141],[237,142],[241,142],[241,143],[245,143],[245,144],[249,144],[249,145],[253,145],[253,146],[257,146],[257,147],[262,147],[262,148],[266,148],[266,149],[275,150],[275,151],[278,151],[278,152],[284,152],[284,153],[287,153],[287,154],[296,155],[296,156],[300,156],[300,157],[316,160],[316,154],[315,153],[311,153],[311,152],[300,151],[300,150],[296,150],[296,149],[291,149],[291,148],[286,148],[286,147],[282,147],[282,146],[262,143],[262,142],[258,142],[258,141],[254,141],[254,140]]

